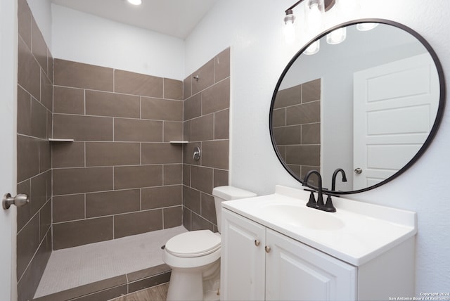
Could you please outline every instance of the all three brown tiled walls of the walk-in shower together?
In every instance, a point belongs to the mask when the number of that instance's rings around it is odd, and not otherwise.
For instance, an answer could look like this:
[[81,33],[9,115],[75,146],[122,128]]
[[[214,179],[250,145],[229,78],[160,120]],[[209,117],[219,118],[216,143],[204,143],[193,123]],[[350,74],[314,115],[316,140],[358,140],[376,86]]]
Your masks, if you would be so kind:
[[229,49],[184,81],[53,59],[18,3],[18,191],[31,196],[18,211],[19,300],[32,299],[51,250],[181,224],[217,231],[211,193],[228,184]]

